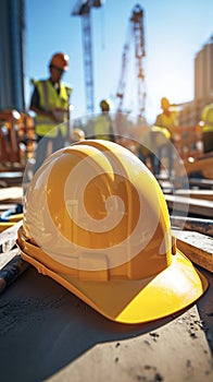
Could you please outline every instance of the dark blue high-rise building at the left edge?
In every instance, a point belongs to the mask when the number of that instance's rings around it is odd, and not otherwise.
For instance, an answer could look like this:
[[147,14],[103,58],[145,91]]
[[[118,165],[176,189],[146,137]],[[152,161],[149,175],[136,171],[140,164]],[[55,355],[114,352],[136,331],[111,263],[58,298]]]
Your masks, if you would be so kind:
[[25,111],[25,3],[0,2],[0,110]]

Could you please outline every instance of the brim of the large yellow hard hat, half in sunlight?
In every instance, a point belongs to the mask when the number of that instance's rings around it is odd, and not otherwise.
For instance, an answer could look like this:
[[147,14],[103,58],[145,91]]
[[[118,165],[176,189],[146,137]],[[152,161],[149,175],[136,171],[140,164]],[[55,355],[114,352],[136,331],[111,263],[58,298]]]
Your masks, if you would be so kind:
[[154,277],[137,280],[85,282],[59,274],[22,251],[22,258],[105,318],[139,324],[178,312],[208,289],[208,280],[179,250],[172,264]]

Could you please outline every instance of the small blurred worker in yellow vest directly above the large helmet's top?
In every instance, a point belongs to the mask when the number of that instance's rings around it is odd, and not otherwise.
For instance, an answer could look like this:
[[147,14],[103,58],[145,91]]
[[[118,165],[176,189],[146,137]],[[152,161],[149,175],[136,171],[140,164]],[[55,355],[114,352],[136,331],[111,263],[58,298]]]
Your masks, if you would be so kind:
[[100,102],[101,114],[95,121],[93,135],[96,139],[115,141],[112,119],[110,117],[110,104],[108,100]]

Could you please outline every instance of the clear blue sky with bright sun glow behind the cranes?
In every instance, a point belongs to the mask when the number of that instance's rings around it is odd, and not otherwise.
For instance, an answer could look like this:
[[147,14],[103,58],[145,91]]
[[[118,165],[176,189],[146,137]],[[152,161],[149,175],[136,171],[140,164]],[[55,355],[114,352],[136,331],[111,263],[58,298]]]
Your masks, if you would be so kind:
[[[77,0],[25,0],[26,103],[30,79],[48,76],[48,63],[55,51],[70,56],[70,71],[63,81],[73,87],[73,119],[86,115],[82,21],[71,16]],[[193,59],[213,34],[212,0],[105,0],[92,9],[95,106],[110,98],[116,110],[123,46],[133,8],[145,10],[146,117],[154,122],[162,96],[172,103],[193,98]],[[130,46],[129,57],[134,57]],[[133,58],[133,62],[135,62]],[[136,110],[134,70],[129,65],[125,108]],[[130,80],[131,79],[131,80]],[[130,95],[130,96],[129,96]]]

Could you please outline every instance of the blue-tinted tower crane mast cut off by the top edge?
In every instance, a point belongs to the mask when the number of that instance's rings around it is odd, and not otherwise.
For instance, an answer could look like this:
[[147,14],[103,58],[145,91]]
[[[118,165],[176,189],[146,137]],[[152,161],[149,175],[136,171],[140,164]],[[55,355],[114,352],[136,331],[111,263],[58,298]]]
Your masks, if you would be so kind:
[[92,38],[91,38],[91,8],[102,7],[101,0],[78,0],[72,11],[73,16],[82,17],[85,91],[87,112],[95,109],[93,104],[93,62],[92,62]]

